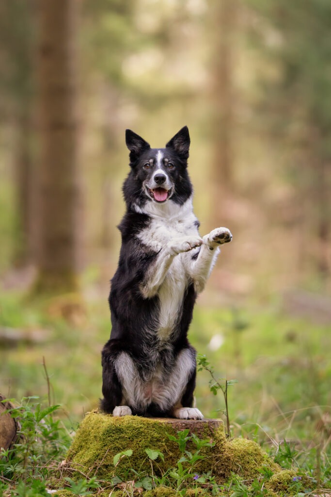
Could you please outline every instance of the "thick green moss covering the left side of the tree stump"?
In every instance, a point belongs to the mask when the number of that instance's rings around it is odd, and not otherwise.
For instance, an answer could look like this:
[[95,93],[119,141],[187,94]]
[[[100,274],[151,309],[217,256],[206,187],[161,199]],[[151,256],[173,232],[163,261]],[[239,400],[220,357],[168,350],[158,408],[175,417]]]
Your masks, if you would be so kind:
[[[106,481],[116,474],[126,481],[131,479],[132,468],[139,473],[150,471],[145,449],[154,448],[164,454],[164,463],[158,460],[158,464],[165,471],[175,466],[179,458],[178,447],[176,451],[168,432],[166,423],[148,418],[90,413],[81,423],[66,459],[71,468],[80,468],[84,474],[95,474]],[[132,450],[132,457],[123,457],[114,471],[114,456],[128,449]]]

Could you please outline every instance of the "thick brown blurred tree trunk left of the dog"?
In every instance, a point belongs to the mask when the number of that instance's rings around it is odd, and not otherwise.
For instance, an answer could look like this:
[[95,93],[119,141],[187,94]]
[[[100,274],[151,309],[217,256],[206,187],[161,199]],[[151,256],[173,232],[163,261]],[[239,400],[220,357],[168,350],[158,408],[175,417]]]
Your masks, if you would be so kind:
[[40,1],[40,247],[37,291],[76,290],[80,266],[78,0]]

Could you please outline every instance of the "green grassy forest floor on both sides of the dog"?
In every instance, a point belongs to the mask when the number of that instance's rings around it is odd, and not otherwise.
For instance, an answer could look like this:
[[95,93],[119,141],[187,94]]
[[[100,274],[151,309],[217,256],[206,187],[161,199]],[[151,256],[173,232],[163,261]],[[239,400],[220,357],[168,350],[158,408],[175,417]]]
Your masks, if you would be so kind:
[[[84,413],[97,407],[101,395],[100,352],[110,333],[107,299],[82,307],[72,296],[31,301],[24,295],[2,294],[1,328],[27,335],[38,330],[41,337],[36,343],[27,338],[15,345],[1,344],[1,394],[16,399],[39,396],[43,408],[49,397],[51,405],[61,404],[52,415],[67,436]],[[190,340],[207,356],[220,383],[238,381],[228,389],[232,435],[258,441],[283,467],[300,468],[327,485],[330,327],[291,319],[277,305],[214,309],[198,303]],[[207,371],[198,373],[197,406],[206,417],[225,418],[224,398],[210,392],[209,380]],[[67,439],[62,444],[66,446]],[[257,495],[250,482],[232,485],[241,495]],[[22,496],[28,495],[25,490]],[[13,496],[19,495],[19,488],[15,492]]]

